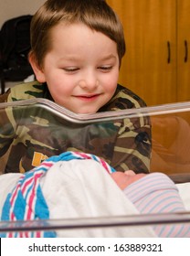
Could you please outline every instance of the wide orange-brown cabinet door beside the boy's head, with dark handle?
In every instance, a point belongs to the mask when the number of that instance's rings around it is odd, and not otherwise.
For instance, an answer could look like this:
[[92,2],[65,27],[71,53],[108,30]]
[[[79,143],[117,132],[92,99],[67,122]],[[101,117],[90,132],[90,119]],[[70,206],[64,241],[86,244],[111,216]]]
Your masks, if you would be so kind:
[[108,0],[121,17],[127,51],[120,82],[147,105],[176,101],[176,2]]

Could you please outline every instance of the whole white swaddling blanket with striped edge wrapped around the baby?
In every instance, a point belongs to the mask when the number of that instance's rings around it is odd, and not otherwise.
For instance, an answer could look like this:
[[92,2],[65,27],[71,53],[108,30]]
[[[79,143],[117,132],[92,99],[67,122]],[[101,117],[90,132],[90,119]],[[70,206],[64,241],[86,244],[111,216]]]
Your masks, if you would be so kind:
[[[106,169],[106,171],[105,171]],[[94,155],[52,156],[24,175],[5,199],[1,220],[70,219],[139,214]],[[6,176],[6,175],[4,175]],[[4,179],[5,182],[5,179]],[[10,188],[9,188],[10,191]],[[6,237],[154,237],[149,228],[74,229],[7,233]]]

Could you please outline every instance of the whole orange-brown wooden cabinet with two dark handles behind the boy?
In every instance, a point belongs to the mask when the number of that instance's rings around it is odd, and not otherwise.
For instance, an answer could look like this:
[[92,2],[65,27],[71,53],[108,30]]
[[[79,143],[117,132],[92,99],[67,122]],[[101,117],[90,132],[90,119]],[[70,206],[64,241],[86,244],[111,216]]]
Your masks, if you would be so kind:
[[107,0],[127,51],[120,82],[148,105],[190,100],[190,0]]

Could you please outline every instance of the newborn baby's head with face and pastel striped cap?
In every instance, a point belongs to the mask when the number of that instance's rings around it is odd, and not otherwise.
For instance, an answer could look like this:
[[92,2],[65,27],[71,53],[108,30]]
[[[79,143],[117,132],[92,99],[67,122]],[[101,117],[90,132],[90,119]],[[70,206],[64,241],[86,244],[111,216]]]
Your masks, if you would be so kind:
[[[114,172],[111,177],[142,214],[186,211],[174,182],[162,173],[129,170]],[[190,237],[189,225],[155,225],[153,229],[158,237]]]

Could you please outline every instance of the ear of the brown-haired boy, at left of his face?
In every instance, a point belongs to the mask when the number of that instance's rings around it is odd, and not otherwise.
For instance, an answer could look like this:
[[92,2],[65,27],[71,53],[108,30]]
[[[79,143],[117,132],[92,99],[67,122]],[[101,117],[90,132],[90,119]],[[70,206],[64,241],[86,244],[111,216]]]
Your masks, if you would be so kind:
[[39,65],[37,64],[37,59],[36,59],[34,53],[31,52],[29,54],[28,60],[29,60],[29,63],[31,65],[34,73],[35,73],[37,81],[45,82],[46,81],[45,74],[43,72],[43,69],[41,67],[39,67]]

